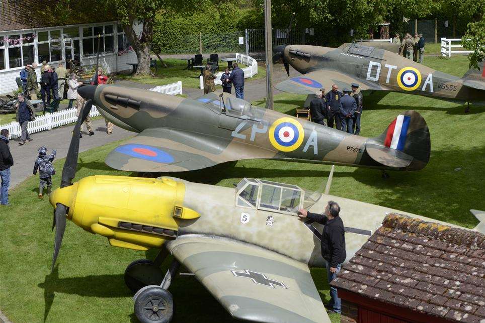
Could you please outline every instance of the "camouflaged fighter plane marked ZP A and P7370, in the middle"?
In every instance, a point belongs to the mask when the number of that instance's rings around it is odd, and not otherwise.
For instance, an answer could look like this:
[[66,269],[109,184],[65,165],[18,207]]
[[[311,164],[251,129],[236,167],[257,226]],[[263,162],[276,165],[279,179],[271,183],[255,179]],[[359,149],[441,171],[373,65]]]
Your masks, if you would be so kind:
[[120,170],[177,172],[254,158],[419,170],[430,156],[428,126],[414,111],[399,114],[379,137],[365,138],[227,93],[190,99],[115,85],[78,93],[107,120],[138,133],[106,158]]

